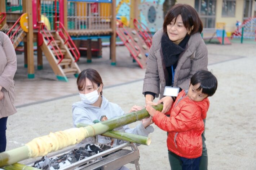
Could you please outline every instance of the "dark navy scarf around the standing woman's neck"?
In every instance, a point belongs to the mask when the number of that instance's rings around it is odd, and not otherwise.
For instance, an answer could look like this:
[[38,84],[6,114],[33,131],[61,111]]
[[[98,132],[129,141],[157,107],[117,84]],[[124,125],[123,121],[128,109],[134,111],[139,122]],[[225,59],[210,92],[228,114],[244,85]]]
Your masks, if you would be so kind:
[[181,52],[185,51],[186,44],[190,36],[186,36],[178,45],[173,43],[167,33],[163,33],[161,40],[161,48],[163,54],[163,61],[166,67],[175,65],[179,59]]

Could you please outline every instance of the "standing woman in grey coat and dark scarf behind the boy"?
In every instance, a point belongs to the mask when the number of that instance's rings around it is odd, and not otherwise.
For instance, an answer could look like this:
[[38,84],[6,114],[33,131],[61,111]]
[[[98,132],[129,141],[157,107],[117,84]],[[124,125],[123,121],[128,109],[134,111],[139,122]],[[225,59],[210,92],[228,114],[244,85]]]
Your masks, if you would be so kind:
[[[163,113],[168,114],[175,96],[163,96],[166,86],[188,89],[190,78],[198,70],[207,70],[207,47],[200,36],[202,22],[193,7],[185,4],[173,6],[167,13],[163,28],[155,33],[147,58],[143,94],[147,105],[163,103]],[[207,148],[203,139],[203,155],[200,170],[208,164]],[[172,170],[181,170],[180,158],[168,152]]]

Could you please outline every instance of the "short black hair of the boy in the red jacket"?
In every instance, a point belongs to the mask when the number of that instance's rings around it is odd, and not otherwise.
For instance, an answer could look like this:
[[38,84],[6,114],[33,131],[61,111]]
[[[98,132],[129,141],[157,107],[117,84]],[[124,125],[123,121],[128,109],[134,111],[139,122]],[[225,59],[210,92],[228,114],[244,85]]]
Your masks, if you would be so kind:
[[195,86],[200,83],[197,91],[202,89],[202,93],[212,96],[217,89],[218,81],[217,78],[209,71],[199,70],[190,79],[190,84]]

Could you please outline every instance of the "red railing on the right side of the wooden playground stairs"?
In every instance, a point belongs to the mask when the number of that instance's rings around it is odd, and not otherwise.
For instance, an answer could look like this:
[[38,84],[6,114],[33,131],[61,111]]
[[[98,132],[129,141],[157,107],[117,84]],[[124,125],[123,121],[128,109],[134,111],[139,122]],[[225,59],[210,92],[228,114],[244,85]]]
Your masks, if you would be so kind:
[[63,39],[64,44],[67,44],[67,46],[69,47],[69,50],[75,58],[75,62],[78,61],[78,59],[80,58],[80,52],[77,49],[72,38],[69,36],[69,33],[67,32],[63,24],[61,22],[56,22],[55,27],[58,28],[57,32],[59,33],[59,36],[61,36],[61,38]]

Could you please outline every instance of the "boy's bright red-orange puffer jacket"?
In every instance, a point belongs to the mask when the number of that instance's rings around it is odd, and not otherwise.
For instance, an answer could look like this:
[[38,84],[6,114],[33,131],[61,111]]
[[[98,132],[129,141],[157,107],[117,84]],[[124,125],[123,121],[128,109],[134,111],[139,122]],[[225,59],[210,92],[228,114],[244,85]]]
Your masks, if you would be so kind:
[[182,90],[171,107],[170,117],[156,111],[153,122],[169,132],[167,137],[168,150],[185,158],[197,158],[202,155],[203,119],[209,108],[209,100],[200,102],[189,100]]

